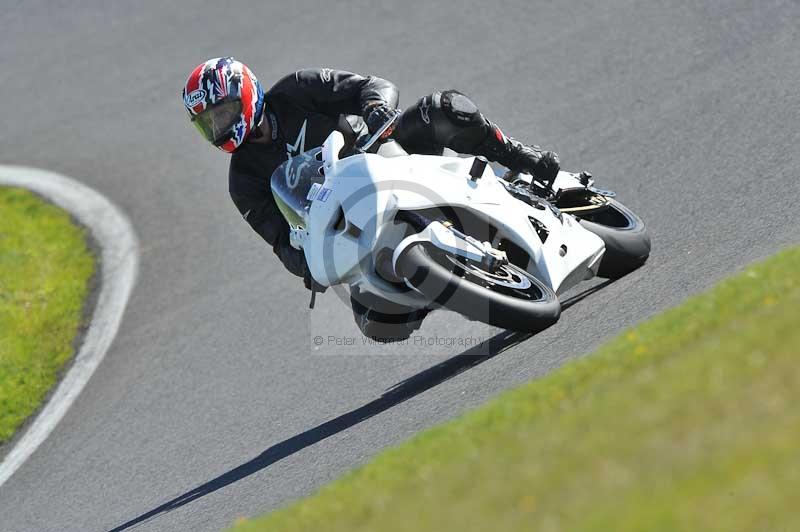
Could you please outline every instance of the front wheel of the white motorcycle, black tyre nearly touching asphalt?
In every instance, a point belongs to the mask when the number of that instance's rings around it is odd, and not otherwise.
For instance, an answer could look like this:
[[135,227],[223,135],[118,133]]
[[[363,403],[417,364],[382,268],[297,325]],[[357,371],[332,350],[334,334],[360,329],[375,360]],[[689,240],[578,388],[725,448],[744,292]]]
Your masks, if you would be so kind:
[[495,327],[537,332],[561,313],[555,292],[513,264],[489,271],[420,242],[398,257],[395,270],[431,301]]

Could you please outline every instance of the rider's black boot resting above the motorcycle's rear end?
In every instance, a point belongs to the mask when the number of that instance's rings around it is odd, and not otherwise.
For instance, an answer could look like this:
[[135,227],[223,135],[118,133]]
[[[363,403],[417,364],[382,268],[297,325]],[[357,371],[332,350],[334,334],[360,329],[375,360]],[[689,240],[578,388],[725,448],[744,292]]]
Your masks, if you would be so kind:
[[489,122],[488,125],[489,132],[486,139],[473,150],[475,155],[483,155],[514,172],[531,174],[547,187],[555,181],[560,169],[558,154],[542,151],[539,146],[527,146],[516,139],[506,137],[495,124]]

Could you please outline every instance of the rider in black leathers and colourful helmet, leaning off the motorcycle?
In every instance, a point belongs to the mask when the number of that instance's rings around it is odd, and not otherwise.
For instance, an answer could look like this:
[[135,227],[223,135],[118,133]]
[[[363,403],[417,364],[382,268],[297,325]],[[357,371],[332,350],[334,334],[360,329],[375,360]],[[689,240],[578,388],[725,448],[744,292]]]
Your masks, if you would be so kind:
[[[183,102],[203,137],[232,154],[229,191],[242,217],[307,288],[324,290],[309,274],[303,252],[289,243],[289,226],[272,197],[270,177],[287,159],[321,146],[333,130],[350,145],[376,131],[397,107],[397,87],[376,76],[315,68],[289,74],[265,93],[247,66],[221,57],[189,74]],[[555,153],[506,137],[455,90],[421,98],[384,138],[390,135],[409,153],[441,154],[447,147],[545,181],[559,169]],[[357,290],[351,303],[361,331],[384,341],[407,338],[427,314]]]

